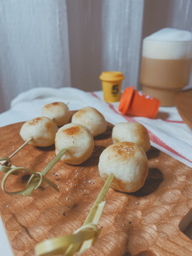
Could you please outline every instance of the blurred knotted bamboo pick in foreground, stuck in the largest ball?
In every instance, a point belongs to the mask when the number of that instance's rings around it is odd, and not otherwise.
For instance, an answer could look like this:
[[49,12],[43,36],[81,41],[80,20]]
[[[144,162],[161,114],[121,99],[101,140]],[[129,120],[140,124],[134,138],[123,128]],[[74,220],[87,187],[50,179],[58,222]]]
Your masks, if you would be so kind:
[[81,255],[86,249],[90,248],[90,246],[97,241],[97,237],[100,234],[100,229],[97,228],[97,224],[99,223],[100,216],[104,209],[104,197],[106,196],[114,177],[115,175],[113,173],[109,175],[108,180],[106,180],[92,210],[86,217],[81,228],[77,229],[74,234],[55,237],[53,239],[45,240],[42,243],[38,243],[35,246],[36,255],[51,256],[62,254],[63,256],[71,256],[76,252],[79,252],[78,255]]

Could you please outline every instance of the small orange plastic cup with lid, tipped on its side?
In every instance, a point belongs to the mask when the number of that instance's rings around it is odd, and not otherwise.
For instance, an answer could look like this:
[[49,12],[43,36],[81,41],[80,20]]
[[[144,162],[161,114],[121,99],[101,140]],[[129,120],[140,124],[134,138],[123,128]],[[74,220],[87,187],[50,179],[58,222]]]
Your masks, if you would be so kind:
[[120,99],[118,110],[122,115],[145,116],[148,118],[155,118],[160,100],[150,97],[149,95],[134,90],[134,87],[125,88],[124,93]]

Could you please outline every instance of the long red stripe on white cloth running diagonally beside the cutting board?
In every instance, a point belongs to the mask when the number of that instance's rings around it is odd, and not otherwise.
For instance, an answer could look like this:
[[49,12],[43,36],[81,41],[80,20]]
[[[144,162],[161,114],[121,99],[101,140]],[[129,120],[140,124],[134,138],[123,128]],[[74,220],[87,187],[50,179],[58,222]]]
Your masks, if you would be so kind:
[[[118,111],[116,111],[116,109],[114,108],[114,106],[112,104],[109,104],[109,108],[111,108],[116,114],[120,115],[120,113],[118,113]],[[125,118],[125,120],[127,120],[128,122],[137,122],[136,120],[134,120],[134,118],[128,117],[128,116],[123,116]],[[179,152],[173,150],[173,148],[169,147],[168,145],[166,145],[162,140],[160,140],[155,134],[153,134],[151,131],[148,130],[148,134],[150,137],[150,140],[153,141],[154,143],[156,143],[157,145],[159,145],[160,147],[165,148],[166,150],[172,152],[173,154],[175,154],[176,156],[182,157],[183,159],[186,159],[187,161],[189,161],[190,163],[192,163],[192,161],[190,161],[189,159],[187,159],[186,157],[182,156],[181,154],[179,154]]]

